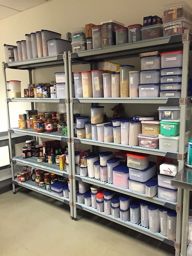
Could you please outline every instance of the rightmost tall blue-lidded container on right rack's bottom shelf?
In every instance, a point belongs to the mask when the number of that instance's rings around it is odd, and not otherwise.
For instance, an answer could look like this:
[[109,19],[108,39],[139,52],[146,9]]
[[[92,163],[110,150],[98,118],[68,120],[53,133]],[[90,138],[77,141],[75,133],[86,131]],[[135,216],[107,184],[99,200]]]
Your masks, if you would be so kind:
[[177,213],[176,211],[167,212],[167,238],[169,240],[176,240],[176,222],[177,222]]

